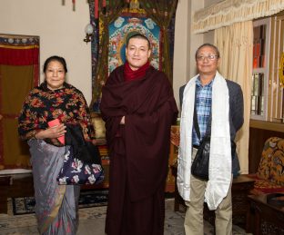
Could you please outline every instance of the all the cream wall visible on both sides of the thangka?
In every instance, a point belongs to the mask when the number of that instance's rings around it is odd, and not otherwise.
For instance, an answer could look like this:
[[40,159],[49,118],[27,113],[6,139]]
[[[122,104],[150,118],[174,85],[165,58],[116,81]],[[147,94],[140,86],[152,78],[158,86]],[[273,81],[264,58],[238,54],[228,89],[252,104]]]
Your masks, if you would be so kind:
[[[214,2],[214,0],[211,0]],[[47,57],[58,54],[66,58],[68,82],[81,90],[91,102],[91,44],[83,42],[89,22],[86,0],[0,0],[0,34],[40,36],[40,68]],[[207,1],[210,4],[210,1]],[[203,8],[204,0],[178,0],[174,54],[174,93],[179,106],[178,89],[196,73],[194,54],[203,44],[203,34],[191,34],[191,18]],[[43,74],[41,72],[41,81]]]

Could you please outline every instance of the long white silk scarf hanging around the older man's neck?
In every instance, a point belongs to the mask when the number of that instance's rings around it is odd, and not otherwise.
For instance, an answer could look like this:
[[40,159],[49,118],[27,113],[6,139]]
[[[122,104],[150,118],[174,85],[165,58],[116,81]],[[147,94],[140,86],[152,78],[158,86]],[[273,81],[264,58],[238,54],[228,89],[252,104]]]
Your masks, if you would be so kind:
[[[192,125],[198,75],[190,79],[185,87],[180,117],[177,189],[185,201],[190,201]],[[227,82],[217,72],[212,85],[209,180],[205,191],[209,210],[216,210],[218,204],[227,196],[232,177],[228,98]]]

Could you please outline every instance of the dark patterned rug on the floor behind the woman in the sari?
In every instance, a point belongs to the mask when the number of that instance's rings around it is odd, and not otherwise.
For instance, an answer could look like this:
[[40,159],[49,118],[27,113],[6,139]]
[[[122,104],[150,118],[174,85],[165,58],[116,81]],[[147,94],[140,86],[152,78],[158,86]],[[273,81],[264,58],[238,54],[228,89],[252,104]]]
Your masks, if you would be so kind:
[[[106,206],[107,195],[107,190],[81,191],[79,208]],[[35,198],[12,198],[12,206],[14,215],[35,213]]]

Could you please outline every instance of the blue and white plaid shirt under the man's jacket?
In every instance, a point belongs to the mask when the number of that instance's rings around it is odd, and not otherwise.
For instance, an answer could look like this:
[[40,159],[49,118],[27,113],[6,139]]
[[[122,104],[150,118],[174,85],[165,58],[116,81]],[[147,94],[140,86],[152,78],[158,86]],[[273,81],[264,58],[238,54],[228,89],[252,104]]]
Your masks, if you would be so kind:
[[[214,79],[213,79],[214,80]],[[211,113],[212,104],[212,84],[213,80],[205,86],[202,86],[200,77],[196,81],[196,110],[198,116],[198,126],[200,131],[200,138],[204,137],[208,125],[208,119]],[[192,128],[192,144],[199,145],[199,139],[194,125]]]

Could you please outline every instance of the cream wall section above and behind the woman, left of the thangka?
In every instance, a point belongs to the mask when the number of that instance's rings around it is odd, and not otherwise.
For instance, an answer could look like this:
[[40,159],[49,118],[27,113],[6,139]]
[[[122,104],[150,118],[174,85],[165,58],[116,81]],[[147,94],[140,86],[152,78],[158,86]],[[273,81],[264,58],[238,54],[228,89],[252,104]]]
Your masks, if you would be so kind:
[[0,0],[0,34],[27,34],[40,37],[40,70],[47,57],[65,57],[67,82],[76,86],[91,102],[91,44],[83,42],[89,23],[86,0]]

